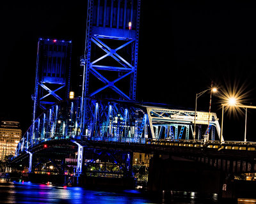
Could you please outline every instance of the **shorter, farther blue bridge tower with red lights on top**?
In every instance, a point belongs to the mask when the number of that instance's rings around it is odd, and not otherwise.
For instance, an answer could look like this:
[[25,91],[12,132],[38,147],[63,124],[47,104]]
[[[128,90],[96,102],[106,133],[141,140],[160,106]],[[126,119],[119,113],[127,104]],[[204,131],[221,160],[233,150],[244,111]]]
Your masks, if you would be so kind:
[[[33,127],[40,113],[66,99],[70,89],[71,41],[39,38],[35,94],[32,95]],[[34,131],[33,131],[34,132]]]

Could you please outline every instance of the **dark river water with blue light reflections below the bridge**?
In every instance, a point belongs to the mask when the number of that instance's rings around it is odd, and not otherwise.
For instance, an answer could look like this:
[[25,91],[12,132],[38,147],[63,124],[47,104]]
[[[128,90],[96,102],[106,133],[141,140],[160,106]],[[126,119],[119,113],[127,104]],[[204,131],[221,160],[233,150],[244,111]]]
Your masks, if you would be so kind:
[[93,191],[83,187],[58,187],[31,182],[8,182],[0,179],[0,203],[218,203],[218,196],[202,196],[194,192],[163,191],[143,194],[137,190]]

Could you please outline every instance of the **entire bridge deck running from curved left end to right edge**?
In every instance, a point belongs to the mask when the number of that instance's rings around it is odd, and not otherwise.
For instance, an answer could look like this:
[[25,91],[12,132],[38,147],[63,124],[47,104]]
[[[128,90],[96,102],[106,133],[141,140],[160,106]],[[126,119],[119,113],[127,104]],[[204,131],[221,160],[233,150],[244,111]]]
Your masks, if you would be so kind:
[[[100,149],[114,152],[141,152],[154,155],[177,156],[209,164],[227,173],[256,172],[255,142],[223,142],[204,140],[171,140],[149,138],[83,137],[83,140],[60,139],[40,141],[31,145],[28,152],[63,155],[77,152],[77,143],[85,149]],[[47,148],[44,148],[44,145]],[[43,153],[42,153],[43,152]],[[23,152],[12,162],[28,157]]]

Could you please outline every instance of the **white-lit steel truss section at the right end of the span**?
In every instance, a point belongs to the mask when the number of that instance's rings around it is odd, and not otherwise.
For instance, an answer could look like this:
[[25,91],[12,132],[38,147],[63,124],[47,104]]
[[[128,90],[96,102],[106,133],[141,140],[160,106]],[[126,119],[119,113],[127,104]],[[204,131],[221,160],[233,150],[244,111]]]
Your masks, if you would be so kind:
[[[167,108],[147,107],[148,119],[152,131],[152,138],[170,138],[180,140],[186,129],[185,139],[189,140],[189,130],[193,135],[192,124],[195,122],[195,112],[189,110],[175,110]],[[198,112],[196,115],[196,126],[198,126],[198,140],[202,136],[202,126],[207,125],[208,113]],[[204,117],[206,116],[206,117]],[[174,128],[174,131],[173,131]],[[164,136],[162,134],[165,130]],[[212,140],[215,139],[215,130],[218,132],[220,139],[220,124],[216,113],[211,113],[209,132],[211,132]],[[207,135],[207,133],[205,134]]]

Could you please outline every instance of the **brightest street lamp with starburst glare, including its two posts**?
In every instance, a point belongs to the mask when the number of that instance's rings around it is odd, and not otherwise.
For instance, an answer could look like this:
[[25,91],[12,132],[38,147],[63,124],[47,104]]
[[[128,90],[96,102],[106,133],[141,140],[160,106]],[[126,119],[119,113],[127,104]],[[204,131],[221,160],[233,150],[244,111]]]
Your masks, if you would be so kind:
[[245,109],[244,142],[246,142],[247,108],[256,109],[256,106],[237,105],[237,99],[236,98],[229,98],[227,103],[222,103],[221,106],[222,106],[222,117],[221,117],[221,138],[220,138],[220,142],[222,142],[221,139],[223,138],[223,113],[224,113],[224,106],[233,106],[233,107],[244,108]]

